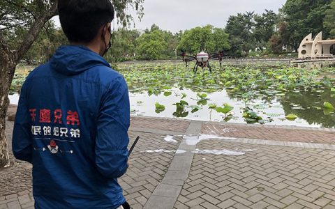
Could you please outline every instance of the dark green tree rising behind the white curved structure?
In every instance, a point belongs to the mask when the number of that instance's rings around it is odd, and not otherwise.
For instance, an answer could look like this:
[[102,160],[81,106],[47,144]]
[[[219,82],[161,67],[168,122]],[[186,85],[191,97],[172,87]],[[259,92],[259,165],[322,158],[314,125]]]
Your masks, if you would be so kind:
[[323,22],[325,11],[331,2],[332,0],[286,1],[281,12],[284,14],[285,33],[290,33],[287,40],[288,46],[297,52],[301,40],[309,33],[318,34],[324,31],[325,38],[329,36],[329,31],[325,29]]

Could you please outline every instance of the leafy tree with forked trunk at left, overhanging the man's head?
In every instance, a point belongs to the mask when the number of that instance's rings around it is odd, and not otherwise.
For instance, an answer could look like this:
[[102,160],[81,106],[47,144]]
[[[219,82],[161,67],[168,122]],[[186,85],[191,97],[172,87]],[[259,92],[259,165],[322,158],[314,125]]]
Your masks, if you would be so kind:
[[[113,0],[117,20],[124,26],[132,17],[126,8],[132,6],[141,18],[144,0]],[[38,33],[45,29],[50,18],[57,15],[58,0],[3,0],[0,1],[0,167],[9,166],[6,141],[6,113],[9,105],[8,93],[17,63],[28,52]],[[17,34],[22,34],[21,42]]]

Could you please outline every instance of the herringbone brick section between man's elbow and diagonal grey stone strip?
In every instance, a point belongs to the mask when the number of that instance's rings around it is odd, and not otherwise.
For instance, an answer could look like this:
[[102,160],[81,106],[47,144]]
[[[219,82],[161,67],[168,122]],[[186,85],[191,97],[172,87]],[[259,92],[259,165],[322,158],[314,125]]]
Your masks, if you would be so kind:
[[[165,176],[172,161],[174,153],[147,153],[146,150],[176,150],[181,137],[174,137],[177,143],[164,141],[165,137],[143,133],[131,132],[129,137],[133,144],[136,136],[140,136],[133,153],[129,159],[127,173],[119,179],[124,195],[133,208],[142,208],[151,196],[158,183]],[[141,152],[142,151],[142,152]]]

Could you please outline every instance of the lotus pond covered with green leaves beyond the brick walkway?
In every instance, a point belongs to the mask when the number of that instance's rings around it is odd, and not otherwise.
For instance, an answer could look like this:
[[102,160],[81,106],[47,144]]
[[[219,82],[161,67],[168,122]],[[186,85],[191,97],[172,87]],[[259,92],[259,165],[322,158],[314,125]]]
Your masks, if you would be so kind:
[[[184,63],[121,63],[131,114],[223,123],[335,127],[335,68],[223,65],[214,72]],[[31,68],[18,68],[16,93]],[[10,95],[15,103],[17,94]],[[17,102],[17,101],[16,101]]]

